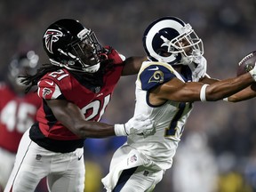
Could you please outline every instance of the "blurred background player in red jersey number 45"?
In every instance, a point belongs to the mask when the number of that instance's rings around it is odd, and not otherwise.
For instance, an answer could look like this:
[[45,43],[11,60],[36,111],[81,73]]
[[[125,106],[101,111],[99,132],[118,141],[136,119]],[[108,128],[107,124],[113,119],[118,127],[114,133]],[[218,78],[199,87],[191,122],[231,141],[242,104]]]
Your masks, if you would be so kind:
[[19,78],[26,72],[36,74],[38,59],[34,51],[15,54],[4,81],[0,82],[0,191],[12,172],[21,136],[35,122],[41,103],[36,92],[25,94],[27,86]]

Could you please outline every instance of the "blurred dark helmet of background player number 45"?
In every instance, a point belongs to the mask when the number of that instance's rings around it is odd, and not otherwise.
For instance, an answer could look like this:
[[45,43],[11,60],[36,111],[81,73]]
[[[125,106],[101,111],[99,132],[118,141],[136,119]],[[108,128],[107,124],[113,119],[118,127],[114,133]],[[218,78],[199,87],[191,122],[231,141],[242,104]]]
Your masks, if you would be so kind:
[[19,52],[13,55],[8,66],[8,79],[13,87],[24,86],[20,76],[36,74],[39,65],[38,60],[39,56],[34,51]]

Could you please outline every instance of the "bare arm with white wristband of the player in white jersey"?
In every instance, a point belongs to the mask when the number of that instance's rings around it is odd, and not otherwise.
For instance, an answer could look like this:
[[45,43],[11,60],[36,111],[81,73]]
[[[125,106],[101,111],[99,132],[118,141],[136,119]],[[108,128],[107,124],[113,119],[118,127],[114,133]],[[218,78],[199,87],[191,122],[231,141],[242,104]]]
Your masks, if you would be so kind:
[[[188,82],[183,83],[178,78],[159,85],[150,92],[149,100],[152,104],[161,104],[164,100],[192,102],[197,100],[222,100],[230,95],[240,92],[254,82],[252,75],[246,73],[242,76],[215,81],[213,84]],[[203,89],[203,85],[204,88]]]

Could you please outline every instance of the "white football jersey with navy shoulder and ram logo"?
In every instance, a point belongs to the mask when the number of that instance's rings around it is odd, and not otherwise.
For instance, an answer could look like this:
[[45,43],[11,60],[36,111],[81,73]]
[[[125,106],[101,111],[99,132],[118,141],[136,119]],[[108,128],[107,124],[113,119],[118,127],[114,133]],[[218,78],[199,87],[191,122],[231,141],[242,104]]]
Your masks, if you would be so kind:
[[[206,74],[206,63],[199,68],[185,67],[180,75],[171,65],[163,62],[143,62],[136,80],[136,106],[134,116],[143,114],[155,121],[156,132],[149,136],[129,135],[127,144],[154,161],[160,168],[169,169],[180,136],[193,108],[190,102],[167,100],[160,106],[148,102],[148,90],[170,81],[173,77],[183,82],[198,81]],[[199,76],[198,76],[199,75]]]

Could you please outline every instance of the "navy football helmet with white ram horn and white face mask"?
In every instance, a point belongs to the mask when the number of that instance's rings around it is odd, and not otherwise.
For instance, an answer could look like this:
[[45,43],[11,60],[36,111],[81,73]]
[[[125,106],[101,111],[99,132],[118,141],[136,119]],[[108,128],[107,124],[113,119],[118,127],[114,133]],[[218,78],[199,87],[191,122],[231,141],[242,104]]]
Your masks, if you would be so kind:
[[142,42],[149,60],[171,65],[188,65],[194,57],[204,54],[203,42],[191,26],[171,16],[153,21]]

